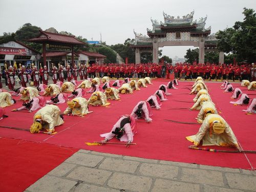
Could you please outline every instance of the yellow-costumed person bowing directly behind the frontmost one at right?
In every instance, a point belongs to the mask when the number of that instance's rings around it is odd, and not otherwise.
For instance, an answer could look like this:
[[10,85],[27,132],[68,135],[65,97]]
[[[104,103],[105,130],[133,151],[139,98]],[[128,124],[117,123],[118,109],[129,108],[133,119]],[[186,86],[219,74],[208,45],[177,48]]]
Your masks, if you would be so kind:
[[203,102],[202,108],[197,115],[197,122],[202,123],[207,114],[218,114],[215,104],[211,101]]

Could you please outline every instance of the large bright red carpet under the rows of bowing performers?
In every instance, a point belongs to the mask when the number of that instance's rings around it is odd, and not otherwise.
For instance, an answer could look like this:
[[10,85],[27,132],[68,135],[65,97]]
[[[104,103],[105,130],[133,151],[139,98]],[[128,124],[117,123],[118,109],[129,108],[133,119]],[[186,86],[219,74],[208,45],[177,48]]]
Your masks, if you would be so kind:
[[[192,99],[195,95],[188,95],[190,91],[186,87],[191,88],[194,82],[180,82],[179,89],[171,90],[170,92],[173,95],[168,96],[168,101],[162,102],[162,109],[159,111],[153,109],[152,123],[137,123],[139,132],[134,137],[134,142],[137,143],[136,146],[125,148],[120,145],[87,146],[84,144],[84,142],[100,141],[102,138],[99,134],[109,132],[120,115],[130,114],[138,101],[145,100],[155,93],[160,84],[167,84],[167,79],[155,80],[153,83],[147,88],[141,88],[140,91],[136,91],[134,94],[121,95],[121,101],[111,101],[110,108],[90,106],[90,111],[93,111],[93,113],[84,118],[65,116],[65,123],[56,127],[55,130],[58,133],[55,135],[30,134],[25,131],[0,128],[0,136],[149,159],[245,169],[253,169],[256,166],[256,155],[253,154],[210,153],[189,150],[187,146],[191,143],[185,137],[196,134],[200,125],[163,121],[163,119],[172,119],[196,122],[197,111],[170,110],[170,108],[189,108],[193,105]],[[231,93],[223,93],[223,90],[220,89],[221,83],[206,82],[206,84],[210,90],[209,94],[212,100],[216,103],[218,110],[222,112],[220,115],[230,124],[243,149],[256,150],[253,141],[253,135],[256,132],[253,125],[255,124],[255,116],[245,115],[242,112],[242,109],[246,109],[246,106],[233,106],[229,103]],[[233,83],[233,87],[240,87],[240,84]],[[245,89],[242,88],[242,90]],[[247,93],[248,91],[244,92]],[[87,99],[89,97],[90,94],[88,94]],[[179,102],[179,100],[188,102]],[[21,105],[20,102],[18,104]],[[66,104],[61,104],[61,111],[65,110],[66,106]],[[2,120],[1,124],[29,129],[34,113],[10,112],[13,108],[13,106],[6,108],[9,118]],[[117,140],[112,139],[112,141],[116,142]],[[211,148],[219,149],[221,147],[213,146]]]

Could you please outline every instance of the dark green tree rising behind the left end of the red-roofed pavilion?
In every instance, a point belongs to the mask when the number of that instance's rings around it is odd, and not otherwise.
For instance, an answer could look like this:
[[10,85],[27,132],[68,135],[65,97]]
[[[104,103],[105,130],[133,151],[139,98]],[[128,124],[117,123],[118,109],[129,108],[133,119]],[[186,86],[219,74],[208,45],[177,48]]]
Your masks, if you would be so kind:
[[24,42],[27,46],[37,50],[42,50],[41,44],[27,41],[30,38],[38,37],[41,30],[40,27],[32,26],[30,23],[24,24],[21,28],[16,31],[15,39]]

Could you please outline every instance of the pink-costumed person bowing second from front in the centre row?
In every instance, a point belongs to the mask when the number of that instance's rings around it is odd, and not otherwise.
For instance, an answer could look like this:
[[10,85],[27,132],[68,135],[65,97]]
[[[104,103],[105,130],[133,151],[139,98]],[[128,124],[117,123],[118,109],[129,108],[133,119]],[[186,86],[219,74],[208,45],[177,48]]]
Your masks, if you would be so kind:
[[152,121],[152,118],[150,118],[152,115],[153,113],[150,107],[150,103],[147,101],[139,101],[131,113],[131,116],[133,116],[135,119],[144,117],[147,122]]

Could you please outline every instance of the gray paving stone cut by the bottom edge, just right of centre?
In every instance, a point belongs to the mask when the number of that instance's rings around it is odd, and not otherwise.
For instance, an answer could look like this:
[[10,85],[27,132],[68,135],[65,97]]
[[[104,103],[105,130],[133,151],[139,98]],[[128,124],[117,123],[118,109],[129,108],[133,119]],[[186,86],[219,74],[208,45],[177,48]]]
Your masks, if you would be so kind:
[[200,186],[199,184],[190,184],[190,183],[183,183],[177,181],[169,181],[164,179],[156,179],[155,185],[152,189],[152,192],[184,192],[184,191],[193,191],[199,192]]

